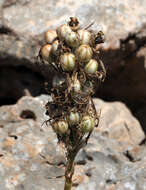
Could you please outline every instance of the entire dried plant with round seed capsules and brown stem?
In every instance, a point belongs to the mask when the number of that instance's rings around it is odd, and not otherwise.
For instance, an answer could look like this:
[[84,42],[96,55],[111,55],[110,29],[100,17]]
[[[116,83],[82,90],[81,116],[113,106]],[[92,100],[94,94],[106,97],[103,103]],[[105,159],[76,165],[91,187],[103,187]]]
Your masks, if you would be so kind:
[[47,44],[42,46],[38,56],[42,66],[52,67],[56,73],[52,80],[52,101],[46,104],[46,114],[50,117],[46,122],[57,134],[58,142],[65,146],[64,190],[72,187],[75,157],[87,144],[100,117],[91,95],[95,85],[106,77],[98,51],[98,44],[104,42],[104,34],[88,30],[91,25],[81,29],[78,19],[71,17],[56,31],[47,31]]

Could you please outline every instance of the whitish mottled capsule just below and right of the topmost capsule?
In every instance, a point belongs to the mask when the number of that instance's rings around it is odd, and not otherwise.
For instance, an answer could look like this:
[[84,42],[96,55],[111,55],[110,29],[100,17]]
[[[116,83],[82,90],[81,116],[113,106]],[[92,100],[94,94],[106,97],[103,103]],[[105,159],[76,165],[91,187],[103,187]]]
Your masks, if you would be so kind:
[[65,36],[65,41],[70,47],[77,47],[79,45],[79,39],[75,32],[68,33]]

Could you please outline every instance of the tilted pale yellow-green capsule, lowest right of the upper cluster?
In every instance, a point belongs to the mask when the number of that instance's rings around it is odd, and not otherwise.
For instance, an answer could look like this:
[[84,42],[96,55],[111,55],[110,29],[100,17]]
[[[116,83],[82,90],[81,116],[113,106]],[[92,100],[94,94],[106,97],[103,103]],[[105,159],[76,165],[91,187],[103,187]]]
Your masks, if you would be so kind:
[[91,59],[85,66],[85,72],[87,74],[95,74],[98,69],[98,63],[95,59]]

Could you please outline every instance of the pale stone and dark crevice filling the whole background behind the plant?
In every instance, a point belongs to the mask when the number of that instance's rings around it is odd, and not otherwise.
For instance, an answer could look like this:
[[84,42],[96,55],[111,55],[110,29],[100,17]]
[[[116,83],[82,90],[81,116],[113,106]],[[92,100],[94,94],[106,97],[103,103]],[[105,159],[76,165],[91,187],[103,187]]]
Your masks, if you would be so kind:
[[0,190],[63,189],[64,177],[54,178],[64,174],[63,149],[41,127],[50,97],[40,95],[53,71],[41,71],[37,55],[44,32],[70,16],[103,30],[108,73],[96,92],[100,125],[77,157],[74,189],[146,190],[145,10],[145,0],[0,1]]

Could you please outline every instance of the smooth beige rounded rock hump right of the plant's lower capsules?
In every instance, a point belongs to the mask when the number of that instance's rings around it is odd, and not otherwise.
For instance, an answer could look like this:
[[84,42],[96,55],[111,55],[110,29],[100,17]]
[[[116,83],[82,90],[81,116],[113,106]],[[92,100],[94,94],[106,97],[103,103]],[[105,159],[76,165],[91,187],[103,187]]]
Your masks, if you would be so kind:
[[123,103],[107,103],[98,99],[95,99],[94,102],[96,109],[101,110],[101,120],[97,130],[102,135],[118,141],[126,141],[129,144],[140,144],[144,140],[145,134],[140,123]]

